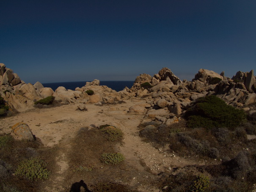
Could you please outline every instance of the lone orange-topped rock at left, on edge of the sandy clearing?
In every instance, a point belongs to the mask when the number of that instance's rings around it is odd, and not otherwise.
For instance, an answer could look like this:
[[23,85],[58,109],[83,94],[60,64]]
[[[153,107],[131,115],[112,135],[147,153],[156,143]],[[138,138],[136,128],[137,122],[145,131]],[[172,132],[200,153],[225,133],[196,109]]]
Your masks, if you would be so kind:
[[18,139],[25,139],[30,141],[34,140],[32,131],[26,123],[16,123],[14,126],[11,127],[11,129],[14,134],[17,135]]

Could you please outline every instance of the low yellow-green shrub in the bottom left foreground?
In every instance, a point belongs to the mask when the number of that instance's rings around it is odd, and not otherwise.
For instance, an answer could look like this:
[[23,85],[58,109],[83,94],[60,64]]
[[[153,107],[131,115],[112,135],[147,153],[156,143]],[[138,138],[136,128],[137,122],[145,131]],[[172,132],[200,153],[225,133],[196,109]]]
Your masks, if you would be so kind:
[[15,174],[30,180],[34,178],[48,179],[51,172],[46,167],[47,163],[42,159],[32,157],[20,162]]

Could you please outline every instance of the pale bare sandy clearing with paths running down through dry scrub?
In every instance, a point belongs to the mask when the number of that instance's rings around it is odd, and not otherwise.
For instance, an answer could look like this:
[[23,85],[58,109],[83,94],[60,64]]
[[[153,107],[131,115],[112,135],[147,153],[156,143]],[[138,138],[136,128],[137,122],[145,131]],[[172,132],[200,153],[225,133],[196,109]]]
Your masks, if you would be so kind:
[[[96,106],[87,104],[88,111],[77,110],[77,104],[62,105],[59,107],[34,109],[28,112],[19,113],[15,116],[3,118],[0,121],[0,133],[11,132],[10,126],[18,122],[28,123],[33,134],[40,138],[45,146],[52,147],[61,143],[61,151],[56,156],[59,170],[55,177],[49,182],[49,187],[44,191],[60,191],[56,189],[58,182],[63,180],[63,173],[68,169],[68,160],[65,153],[69,146],[69,139],[73,138],[81,127],[102,124],[117,126],[124,132],[123,144],[118,150],[124,154],[126,162],[138,170],[143,177],[150,177],[150,174],[160,172],[171,172],[173,167],[184,167],[186,165],[205,165],[205,162],[194,162],[184,159],[175,154],[170,154],[165,149],[156,149],[150,143],[145,143],[138,135],[138,125],[144,115],[129,115],[129,107],[146,103],[143,100],[126,101],[123,104]],[[173,156],[174,155],[174,156]],[[145,171],[145,167],[150,171]],[[140,182],[137,176],[133,176],[132,182]],[[56,189],[56,190],[54,190]],[[149,191],[138,188],[141,191]],[[150,191],[159,191],[151,187]]]

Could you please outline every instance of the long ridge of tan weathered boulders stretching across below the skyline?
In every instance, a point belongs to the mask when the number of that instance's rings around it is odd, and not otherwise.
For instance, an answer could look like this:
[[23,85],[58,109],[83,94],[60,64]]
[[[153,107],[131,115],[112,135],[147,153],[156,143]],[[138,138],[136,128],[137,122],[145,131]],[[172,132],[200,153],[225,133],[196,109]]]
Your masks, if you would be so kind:
[[[143,83],[149,83],[151,88],[144,88],[141,86]],[[182,81],[170,69],[162,68],[153,77],[140,74],[132,88],[126,87],[123,91],[116,92],[99,84],[99,80],[94,80],[75,90],[58,87],[53,91],[52,88],[44,88],[40,82],[26,84],[11,69],[0,63],[0,94],[11,110],[19,112],[33,108],[35,101],[47,96],[54,96],[55,100],[63,104],[99,105],[137,98],[145,99],[146,104],[133,106],[130,113],[166,122],[170,114],[172,118],[181,115],[192,101],[208,95],[216,95],[227,104],[244,110],[251,110],[248,105],[256,102],[256,77],[253,70],[238,71],[232,78],[228,78],[224,76],[224,71],[217,74],[200,69],[192,81]],[[88,95],[88,90],[94,91],[94,94]]]

